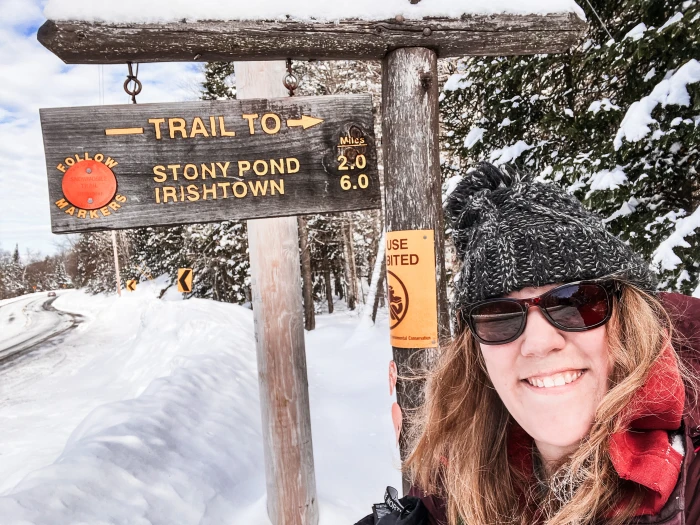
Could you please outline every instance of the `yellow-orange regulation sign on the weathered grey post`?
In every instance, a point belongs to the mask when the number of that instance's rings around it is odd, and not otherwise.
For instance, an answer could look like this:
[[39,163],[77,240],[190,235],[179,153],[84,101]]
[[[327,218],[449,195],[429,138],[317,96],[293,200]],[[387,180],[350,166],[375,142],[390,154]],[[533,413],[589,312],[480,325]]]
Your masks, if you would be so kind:
[[387,232],[391,345],[398,348],[437,346],[435,232]]

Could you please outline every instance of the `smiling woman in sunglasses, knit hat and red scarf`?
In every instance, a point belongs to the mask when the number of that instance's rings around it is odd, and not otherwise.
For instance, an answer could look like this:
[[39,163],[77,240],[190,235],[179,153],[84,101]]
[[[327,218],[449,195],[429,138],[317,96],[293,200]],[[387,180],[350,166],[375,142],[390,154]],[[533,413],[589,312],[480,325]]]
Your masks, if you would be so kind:
[[378,523],[700,523],[700,301],[657,294],[649,265],[554,184],[483,164],[446,211],[457,334],[413,425],[418,498]]

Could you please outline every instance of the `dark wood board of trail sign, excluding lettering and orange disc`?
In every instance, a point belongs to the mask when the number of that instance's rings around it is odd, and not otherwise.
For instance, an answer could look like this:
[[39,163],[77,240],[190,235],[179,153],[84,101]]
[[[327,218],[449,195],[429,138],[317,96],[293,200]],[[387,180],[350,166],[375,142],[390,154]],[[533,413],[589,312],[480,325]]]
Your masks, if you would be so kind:
[[[282,85],[281,81],[277,81]],[[276,217],[329,211],[349,211],[381,206],[377,154],[374,142],[374,120],[372,102],[369,95],[343,95],[328,97],[293,97],[284,99],[256,99],[230,101],[201,101],[170,104],[130,104],[122,106],[96,106],[81,108],[42,109],[41,122],[44,136],[44,151],[49,184],[51,224],[54,233],[70,233],[100,229],[134,228],[142,226],[167,226],[175,224],[223,221],[227,219],[247,219]],[[264,114],[279,115],[280,130],[276,134],[263,131],[260,120]],[[250,134],[249,121],[243,114],[257,114],[254,122],[255,134]],[[299,120],[302,116],[324,119],[315,126],[303,129],[302,126],[288,127],[287,119]],[[200,117],[205,128],[209,129],[209,117],[214,117],[219,127],[218,136],[206,137],[192,134],[193,119]],[[223,118],[225,129],[234,131],[235,137],[221,136],[219,118]],[[156,138],[156,124],[150,118],[165,118],[160,125],[161,139]],[[168,119],[181,118],[186,122],[188,138],[175,133],[170,138]],[[274,128],[274,120],[266,119],[268,129]],[[143,133],[132,135],[106,135],[106,129],[143,128]],[[359,132],[357,130],[360,130]],[[348,133],[361,133],[368,146],[356,148],[366,158],[362,170],[340,170],[338,154],[349,151],[339,148],[341,136]],[[66,157],[85,153],[94,157],[101,153],[118,162],[113,168],[117,177],[117,193],[126,196],[127,201],[109,216],[98,214],[98,218],[78,218],[68,215],[69,208],[59,208],[56,202],[63,198],[61,182],[64,174],[57,169]],[[296,158],[299,171],[280,175],[271,174],[269,161],[279,162],[282,158]],[[265,176],[258,176],[252,170],[239,177],[238,161],[268,161],[270,170]],[[230,162],[227,177],[222,170],[215,168],[217,178],[201,176],[195,180],[183,177],[184,166],[191,164],[200,172],[201,165],[211,163],[225,165]],[[154,180],[153,167],[180,165],[178,180],[173,180],[171,169],[166,169],[167,181]],[[262,165],[260,165],[262,170]],[[191,171],[190,175],[194,172]],[[368,186],[363,189],[358,184],[358,175],[368,177]],[[350,175],[355,189],[344,190],[341,177]],[[201,175],[201,173],[200,173]],[[160,178],[160,177],[158,177]],[[269,195],[271,182],[278,184],[284,180],[284,195]],[[187,190],[177,189],[177,200],[158,203],[155,189],[163,186],[187,187],[196,185],[200,194],[202,185],[211,189],[214,183],[234,184],[242,181],[247,194],[235,198],[232,186],[217,188],[217,198],[209,194],[207,200],[190,201]],[[255,197],[250,184],[268,181],[268,195]],[[245,186],[248,185],[248,186]],[[243,191],[242,189],[240,190]],[[184,201],[180,199],[183,198]]]

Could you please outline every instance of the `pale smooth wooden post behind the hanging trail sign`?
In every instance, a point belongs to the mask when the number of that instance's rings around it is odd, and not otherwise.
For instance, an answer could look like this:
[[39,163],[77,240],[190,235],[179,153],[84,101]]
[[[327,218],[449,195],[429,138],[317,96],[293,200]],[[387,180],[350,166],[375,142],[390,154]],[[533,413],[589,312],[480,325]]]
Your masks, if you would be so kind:
[[[284,62],[234,67],[239,98],[285,95]],[[268,516],[275,525],[317,525],[296,218],[248,221],[248,250]]]

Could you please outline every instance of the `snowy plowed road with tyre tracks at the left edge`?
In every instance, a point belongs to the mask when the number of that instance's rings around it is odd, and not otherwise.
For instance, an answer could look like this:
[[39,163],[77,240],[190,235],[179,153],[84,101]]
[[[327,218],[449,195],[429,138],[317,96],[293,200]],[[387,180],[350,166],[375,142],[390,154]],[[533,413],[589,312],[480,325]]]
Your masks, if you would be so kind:
[[80,316],[56,310],[55,297],[35,293],[0,302],[0,364],[31,351],[80,322]]

